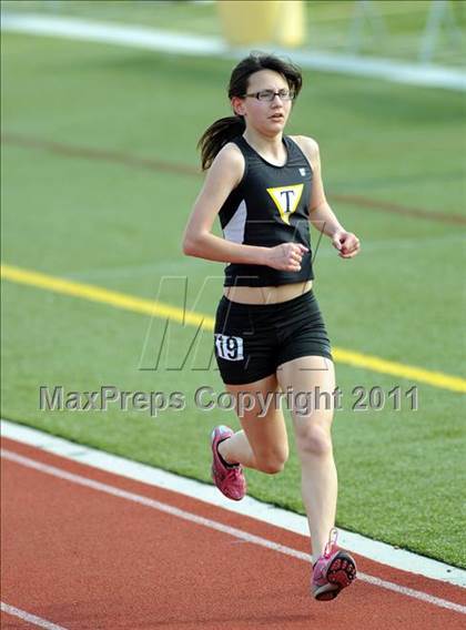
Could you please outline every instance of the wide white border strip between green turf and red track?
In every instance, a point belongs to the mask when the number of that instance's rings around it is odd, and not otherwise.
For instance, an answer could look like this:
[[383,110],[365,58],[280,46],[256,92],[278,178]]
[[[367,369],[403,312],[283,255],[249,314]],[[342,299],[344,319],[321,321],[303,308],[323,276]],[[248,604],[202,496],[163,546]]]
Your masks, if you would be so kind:
[[[222,509],[235,514],[242,514],[243,516],[269,522],[270,525],[281,527],[282,529],[293,531],[306,538],[308,538],[310,535],[307,519],[304,516],[257,501],[252,497],[245,497],[242,501],[233,502],[226,499],[212,485],[203,484],[195,479],[188,479],[180,475],[139,464],[138,461],[132,461],[88,446],[77,445],[67,439],[8,420],[1,420],[1,435],[41,450],[59,455],[60,457],[80,461],[81,464],[99,468],[100,470],[107,470],[113,475],[120,475],[136,481],[142,481],[143,484],[150,484],[210,505],[219,506]],[[466,571],[457,567],[450,567],[444,562],[392,547],[391,545],[366,538],[359,534],[340,528],[338,531],[342,547],[354,553],[358,553],[359,556],[402,571],[411,571],[433,580],[466,587]]]

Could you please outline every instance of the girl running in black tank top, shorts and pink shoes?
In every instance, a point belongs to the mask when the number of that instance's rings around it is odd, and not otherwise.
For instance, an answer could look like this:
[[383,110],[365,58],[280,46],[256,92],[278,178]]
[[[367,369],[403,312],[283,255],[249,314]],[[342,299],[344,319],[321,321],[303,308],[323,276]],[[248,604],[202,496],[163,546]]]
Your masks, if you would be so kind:
[[[335,374],[312,288],[308,224],[344,260],[359,252],[359,241],[326,201],[315,140],[283,133],[301,87],[300,70],[274,55],[250,54],[234,68],[229,88],[234,116],[214,122],[200,140],[207,174],[183,251],[227,263],[215,357],[226,389],[249,402],[241,410],[236,406],[242,430],[221,425],[212,431],[214,482],[240,500],[244,468],[283,470],[288,441],[276,395],[286,393],[290,400],[291,394],[312,541],[311,589],[317,600],[330,600],[351,585],[356,566],[336,547]],[[212,234],[217,215],[223,238]]]

